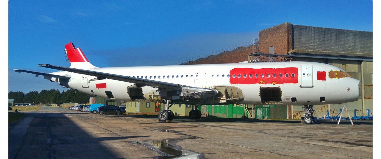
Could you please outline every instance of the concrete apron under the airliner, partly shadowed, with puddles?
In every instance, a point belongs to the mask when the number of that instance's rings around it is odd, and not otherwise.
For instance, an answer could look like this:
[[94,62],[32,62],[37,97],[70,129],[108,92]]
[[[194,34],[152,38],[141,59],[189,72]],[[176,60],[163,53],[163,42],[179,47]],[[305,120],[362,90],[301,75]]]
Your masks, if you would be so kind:
[[99,115],[43,107],[8,127],[8,158],[373,158],[373,121]]

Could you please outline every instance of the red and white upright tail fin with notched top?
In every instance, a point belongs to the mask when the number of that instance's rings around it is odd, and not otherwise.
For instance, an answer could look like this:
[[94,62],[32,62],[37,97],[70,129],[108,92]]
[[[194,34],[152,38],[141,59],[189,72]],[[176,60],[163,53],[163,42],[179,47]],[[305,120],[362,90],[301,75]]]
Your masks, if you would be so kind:
[[79,47],[74,47],[73,43],[66,44],[65,51],[70,61],[70,68],[96,68],[91,65]]

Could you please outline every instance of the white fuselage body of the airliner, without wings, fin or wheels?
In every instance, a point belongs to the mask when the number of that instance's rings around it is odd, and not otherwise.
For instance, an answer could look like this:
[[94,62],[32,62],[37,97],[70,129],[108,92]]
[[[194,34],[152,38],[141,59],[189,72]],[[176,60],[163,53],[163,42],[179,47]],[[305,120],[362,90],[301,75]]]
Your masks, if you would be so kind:
[[[233,86],[240,88],[243,94],[243,100],[237,104],[264,104],[261,96],[265,94],[261,94],[260,89],[265,87],[280,89],[279,103],[283,105],[338,104],[356,101],[359,98],[359,80],[337,74],[331,76],[334,73],[330,71],[344,71],[322,63],[232,63],[110,67],[88,70],[191,87]],[[110,98],[110,95],[106,94],[107,91],[112,93],[114,99],[133,101],[128,94],[128,87],[134,83],[111,79],[91,80],[96,77],[66,71],[52,74],[71,76],[68,83],[60,83],[65,87]],[[149,86],[141,87],[141,89],[144,93],[157,91],[157,88]],[[271,99],[271,95],[267,96]]]

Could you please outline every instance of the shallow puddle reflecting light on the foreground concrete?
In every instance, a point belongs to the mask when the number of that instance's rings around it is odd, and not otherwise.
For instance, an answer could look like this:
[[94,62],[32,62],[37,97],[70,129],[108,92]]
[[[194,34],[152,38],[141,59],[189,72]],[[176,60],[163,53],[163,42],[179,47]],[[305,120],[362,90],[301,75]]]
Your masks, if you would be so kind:
[[[169,130],[164,130],[160,128],[150,128],[152,131],[160,132],[173,132]],[[182,134],[185,135],[185,134]],[[168,140],[159,140],[159,141],[150,141],[142,143],[144,146],[147,146],[151,149],[156,150],[158,153],[161,153],[163,156],[156,157],[157,159],[204,159],[204,155],[196,153],[189,150],[182,150],[180,146],[177,146],[177,142],[181,142],[184,139],[197,139],[198,137],[185,135],[182,138],[177,139],[168,139]]]

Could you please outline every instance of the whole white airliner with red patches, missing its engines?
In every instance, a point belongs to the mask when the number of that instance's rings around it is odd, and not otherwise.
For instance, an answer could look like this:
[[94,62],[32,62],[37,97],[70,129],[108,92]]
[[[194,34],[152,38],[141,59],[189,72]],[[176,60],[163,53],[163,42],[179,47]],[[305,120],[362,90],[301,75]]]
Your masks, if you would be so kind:
[[[60,70],[36,77],[94,96],[125,102],[165,104],[160,121],[174,118],[173,104],[282,104],[303,105],[304,123],[314,122],[315,104],[340,104],[359,99],[359,80],[336,66],[305,62],[227,63],[205,65],[133,66],[98,68],[73,43],[64,50],[69,67],[40,64]],[[192,107],[191,119],[201,111]]]

